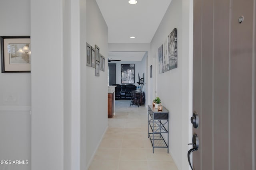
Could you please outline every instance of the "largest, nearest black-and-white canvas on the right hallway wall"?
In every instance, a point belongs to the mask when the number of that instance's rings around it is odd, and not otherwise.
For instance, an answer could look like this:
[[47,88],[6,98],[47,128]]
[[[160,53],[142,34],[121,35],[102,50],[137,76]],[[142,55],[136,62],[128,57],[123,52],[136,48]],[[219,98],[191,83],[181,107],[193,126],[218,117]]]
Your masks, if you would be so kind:
[[177,29],[174,28],[168,36],[169,44],[169,69],[177,68]]

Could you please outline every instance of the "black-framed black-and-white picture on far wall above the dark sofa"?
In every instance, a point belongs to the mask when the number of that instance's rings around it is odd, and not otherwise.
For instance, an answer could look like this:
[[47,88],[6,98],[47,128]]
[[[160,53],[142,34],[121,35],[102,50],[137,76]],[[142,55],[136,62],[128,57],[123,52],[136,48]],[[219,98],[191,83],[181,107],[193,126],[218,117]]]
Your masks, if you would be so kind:
[[135,83],[135,64],[121,64],[121,83]]

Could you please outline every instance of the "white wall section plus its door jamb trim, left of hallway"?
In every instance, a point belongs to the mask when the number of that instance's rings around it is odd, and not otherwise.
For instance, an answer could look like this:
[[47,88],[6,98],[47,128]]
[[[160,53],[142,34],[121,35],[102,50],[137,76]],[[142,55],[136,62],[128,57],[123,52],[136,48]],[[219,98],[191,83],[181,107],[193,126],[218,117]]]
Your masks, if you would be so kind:
[[31,0],[32,169],[80,170],[82,2]]

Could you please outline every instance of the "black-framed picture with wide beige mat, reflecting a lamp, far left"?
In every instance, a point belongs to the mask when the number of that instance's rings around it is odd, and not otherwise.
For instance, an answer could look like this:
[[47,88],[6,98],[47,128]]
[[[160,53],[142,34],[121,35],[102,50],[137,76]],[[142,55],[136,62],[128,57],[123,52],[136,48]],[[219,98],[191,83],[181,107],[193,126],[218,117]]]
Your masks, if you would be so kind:
[[30,36],[1,36],[0,39],[2,73],[30,72]]

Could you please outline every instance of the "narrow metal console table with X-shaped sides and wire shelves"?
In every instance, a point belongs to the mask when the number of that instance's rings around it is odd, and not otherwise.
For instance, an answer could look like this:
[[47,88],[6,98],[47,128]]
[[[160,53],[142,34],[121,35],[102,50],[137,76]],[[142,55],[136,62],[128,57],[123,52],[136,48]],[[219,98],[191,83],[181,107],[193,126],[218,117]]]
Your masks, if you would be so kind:
[[[167,125],[167,129],[164,125]],[[152,133],[150,133],[149,127]],[[167,143],[162,133],[167,133]],[[152,143],[153,153],[154,148],[167,148],[167,153],[169,153],[169,111],[165,107],[162,111],[158,111],[152,105],[148,106],[148,138]]]

